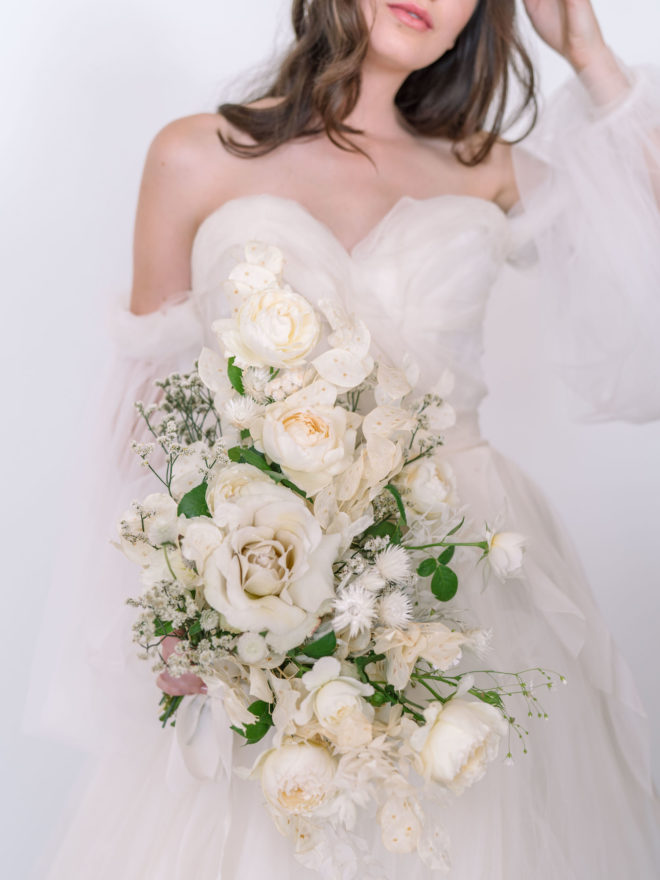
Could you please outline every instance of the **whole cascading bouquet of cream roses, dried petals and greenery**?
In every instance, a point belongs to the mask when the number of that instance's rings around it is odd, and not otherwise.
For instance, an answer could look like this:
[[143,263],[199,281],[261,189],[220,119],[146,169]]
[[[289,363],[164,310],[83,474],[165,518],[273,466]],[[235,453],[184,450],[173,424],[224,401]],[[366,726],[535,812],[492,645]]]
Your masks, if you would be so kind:
[[[387,850],[447,871],[440,811],[423,804],[463,792],[505,734],[527,734],[505,696],[546,714],[523,673],[480,670],[482,687],[456,671],[492,630],[443,614],[451,563],[477,551],[504,579],[524,539],[486,524],[458,540],[465,511],[441,450],[451,373],[417,393],[411,360],[375,363],[367,327],[334,302],[317,311],[283,267],[278,248],[248,242],[225,281],[232,316],[212,323],[219,350],[135,404],[153,440],[132,446],[164,490],[119,523],[117,546],[142,568],[134,640],[157,658],[163,726],[197,691],[247,743],[272,735],[235,769],[261,781],[304,864],[327,871],[340,839],[366,853],[352,832],[374,807]],[[531,671],[546,687],[558,675]]]

